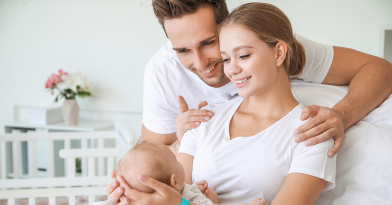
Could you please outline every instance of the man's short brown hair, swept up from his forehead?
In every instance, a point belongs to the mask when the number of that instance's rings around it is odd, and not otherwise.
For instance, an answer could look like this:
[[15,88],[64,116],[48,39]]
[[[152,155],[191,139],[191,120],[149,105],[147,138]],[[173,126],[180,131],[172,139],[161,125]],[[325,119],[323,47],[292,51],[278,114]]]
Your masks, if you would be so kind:
[[[155,16],[165,31],[165,20],[181,18],[184,15],[194,14],[198,9],[210,6],[214,13],[217,24],[222,22],[228,15],[225,0],[153,0]],[[166,34],[167,36],[167,34]]]

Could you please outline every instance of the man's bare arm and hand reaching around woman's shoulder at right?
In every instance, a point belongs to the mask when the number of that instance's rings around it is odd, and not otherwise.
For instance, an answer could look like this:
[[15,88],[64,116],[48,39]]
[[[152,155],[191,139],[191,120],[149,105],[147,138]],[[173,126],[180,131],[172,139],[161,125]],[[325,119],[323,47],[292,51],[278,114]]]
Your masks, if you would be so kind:
[[[308,106],[302,120],[313,117],[295,132],[296,142],[314,145],[334,138],[332,157],[340,149],[344,131],[377,108],[392,93],[392,64],[350,48],[333,47],[334,57],[323,84],[349,85],[349,92],[332,109]],[[297,138],[298,137],[298,138]],[[305,142],[306,143],[306,142]]]

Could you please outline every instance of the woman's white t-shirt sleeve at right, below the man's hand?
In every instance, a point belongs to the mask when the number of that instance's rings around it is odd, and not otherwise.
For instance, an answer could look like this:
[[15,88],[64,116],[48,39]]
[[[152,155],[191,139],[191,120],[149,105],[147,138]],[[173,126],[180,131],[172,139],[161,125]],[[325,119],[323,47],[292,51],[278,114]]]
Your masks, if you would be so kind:
[[336,155],[328,157],[328,150],[333,147],[333,139],[305,146],[305,142],[297,144],[292,150],[291,164],[288,173],[303,173],[327,181],[325,190],[335,187]]

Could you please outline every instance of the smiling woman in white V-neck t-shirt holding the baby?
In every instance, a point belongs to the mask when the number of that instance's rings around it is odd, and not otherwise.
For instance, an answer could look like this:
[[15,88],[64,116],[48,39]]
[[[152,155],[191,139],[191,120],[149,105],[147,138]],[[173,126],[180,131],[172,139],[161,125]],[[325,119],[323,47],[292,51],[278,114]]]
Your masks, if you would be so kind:
[[[225,74],[244,99],[205,107],[215,116],[184,134],[177,158],[185,183],[207,180],[219,204],[255,197],[313,204],[334,187],[336,158],[327,157],[332,139],[310,147],[294,142],[293,132],[306,121],[299,120],[302,105],[291,93],[289,76],[301,73],[305,55],[287,16],[273,5],[245,4],[219,25],[218,36]],[[168,186],[139,178],[157,192],[140,193],[119,180],[138,204],[180,204]]]

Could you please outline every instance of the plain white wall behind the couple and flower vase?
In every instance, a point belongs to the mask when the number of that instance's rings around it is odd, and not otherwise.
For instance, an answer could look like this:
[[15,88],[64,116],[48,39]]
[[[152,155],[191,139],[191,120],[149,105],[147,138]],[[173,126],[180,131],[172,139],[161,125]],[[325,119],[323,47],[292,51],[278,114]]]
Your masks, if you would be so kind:
[[[298,34],[376,56],[381,25],[392,25],[391,0],[264,2]],[[82,118],[135,122],[139,134],[144,65],[166,41],[150,0],[0,0],[0,133],[14,105],[52,104],[44,82],[63,68],[92,82]]]

